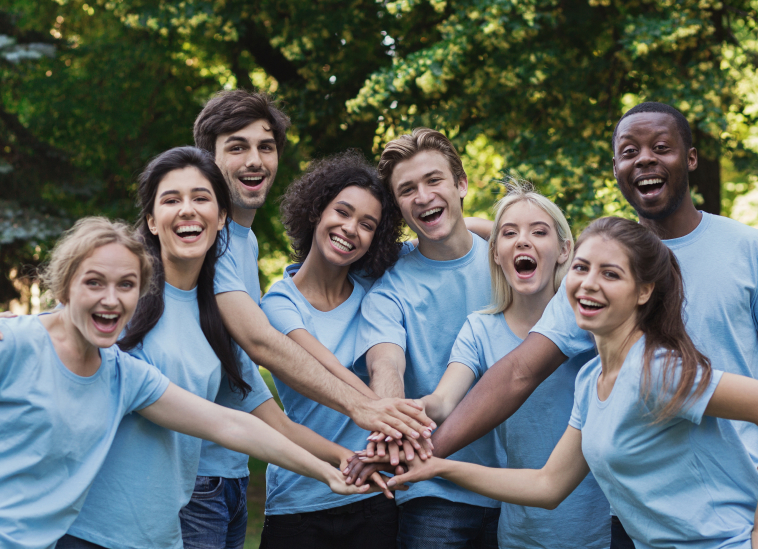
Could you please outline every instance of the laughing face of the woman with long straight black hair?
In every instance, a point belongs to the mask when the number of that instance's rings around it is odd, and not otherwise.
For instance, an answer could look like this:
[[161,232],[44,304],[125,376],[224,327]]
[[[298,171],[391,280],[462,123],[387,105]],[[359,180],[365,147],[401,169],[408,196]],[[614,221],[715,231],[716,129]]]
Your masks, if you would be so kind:
[[147,226],[160,239],[164,264],[179,265],[202,263],[225,220],[210,181],[197,168],[187,167],[161,180]]

